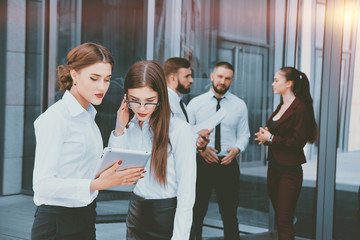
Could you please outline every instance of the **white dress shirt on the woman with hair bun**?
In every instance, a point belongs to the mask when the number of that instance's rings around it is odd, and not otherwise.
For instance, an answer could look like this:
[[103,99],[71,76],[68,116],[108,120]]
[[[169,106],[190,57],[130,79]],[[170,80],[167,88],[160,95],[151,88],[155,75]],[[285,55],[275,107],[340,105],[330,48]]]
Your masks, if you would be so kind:
[[85,110],[66,91],[61,100],[35,120],[36,205],[83,207],[96,198],[98,191],[90,191],[90,183],[103,142],[95,115],[91,104]]

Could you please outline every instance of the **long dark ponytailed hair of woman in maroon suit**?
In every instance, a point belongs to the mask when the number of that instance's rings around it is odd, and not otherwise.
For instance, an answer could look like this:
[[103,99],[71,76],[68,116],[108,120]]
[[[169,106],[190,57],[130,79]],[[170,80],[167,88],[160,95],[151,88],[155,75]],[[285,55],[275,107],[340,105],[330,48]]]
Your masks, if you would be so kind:
[[[315,121],[313,99],[310,94],[310,83],[306,74],[293,67],[283,67],[280,71],[284,74],[286,81],[292,81],[291,90],[301,102],[303,102],[310,114],[311,129],[309,131],[309,143],[314,143],[318,139],[318,127]],[[281,100],[282,101],[282,100]]]

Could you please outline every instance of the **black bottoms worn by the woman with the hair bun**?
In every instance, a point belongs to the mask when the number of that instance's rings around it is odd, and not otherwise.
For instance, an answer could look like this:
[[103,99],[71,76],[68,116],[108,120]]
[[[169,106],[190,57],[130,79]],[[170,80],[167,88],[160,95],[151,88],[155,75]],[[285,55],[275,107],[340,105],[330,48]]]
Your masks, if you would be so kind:
[[32,240],[95,240],[96,200],[86,207],[41,205],[35,213]]

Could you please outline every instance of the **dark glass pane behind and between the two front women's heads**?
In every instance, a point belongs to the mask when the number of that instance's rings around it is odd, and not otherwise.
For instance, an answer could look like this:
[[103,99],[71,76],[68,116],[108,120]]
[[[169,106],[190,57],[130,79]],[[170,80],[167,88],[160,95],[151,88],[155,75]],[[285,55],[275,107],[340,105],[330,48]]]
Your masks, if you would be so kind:
[[[82,42],[96,42],[109,49],[115,67],[110,88],[96,106],[96,122],[104,146],[114,129],[116,111],[123,98],[123,79],[130,66],[146,59],[146,0],[90,0],[82,9]],[[96,17],[94,17],[96,16]]]

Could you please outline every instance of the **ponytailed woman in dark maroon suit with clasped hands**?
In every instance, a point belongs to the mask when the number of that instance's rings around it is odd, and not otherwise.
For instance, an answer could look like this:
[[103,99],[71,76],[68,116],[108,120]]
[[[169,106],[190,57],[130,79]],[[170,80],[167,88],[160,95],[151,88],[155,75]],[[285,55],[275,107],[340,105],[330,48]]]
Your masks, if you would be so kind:
[[283,67],[275,74],[272,86],[282,99],[266,127],[255,133],[255,140],[269,146],[268,192],[279,239],[290,240],[295,237],[293,220],[303,182],[301,164],[306,162],[303,148],[307,142],[316,142],[318,129],[305,73]]

